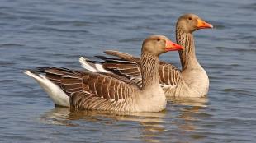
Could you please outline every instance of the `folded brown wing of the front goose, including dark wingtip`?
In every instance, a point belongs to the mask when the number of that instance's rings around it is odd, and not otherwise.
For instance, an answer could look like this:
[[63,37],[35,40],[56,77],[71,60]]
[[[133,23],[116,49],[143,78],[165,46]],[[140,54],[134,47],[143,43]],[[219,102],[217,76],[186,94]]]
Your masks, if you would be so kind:
[[[103,75],[100,73],[93,72],[79,72],[71,71],[63,68],[45,68],[40,69],[41,72],[46,74],[46,77],[50,81],[55,82],[59,85],[61,89],[66,92],[70,97],[72,96],[77,102],[89,102],[86,101],[91,96],[96,96],[100,99],[126,99],[132,95],[133,90],[131,85],[133,84],[129,80],[125,80],[124,77],[120,81],[118,77],[107,74]],[[107,76],[111,75],[111,76]],[[78,95],[83,95],[82,97],[77,97]]]

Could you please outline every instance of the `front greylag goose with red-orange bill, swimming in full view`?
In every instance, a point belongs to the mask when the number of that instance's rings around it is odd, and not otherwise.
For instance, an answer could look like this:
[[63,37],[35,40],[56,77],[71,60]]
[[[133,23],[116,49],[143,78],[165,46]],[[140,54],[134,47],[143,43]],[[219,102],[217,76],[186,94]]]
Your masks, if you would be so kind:
[[133,81],[111,73],[74,71],[66,68],[40,67],[34,78],[55,104],[70,108],[106,111],[159,112],[166,107],[166,97],[159,85],[159,54],[183,49],[162,35],[145,39],[141,49],[141,88]]

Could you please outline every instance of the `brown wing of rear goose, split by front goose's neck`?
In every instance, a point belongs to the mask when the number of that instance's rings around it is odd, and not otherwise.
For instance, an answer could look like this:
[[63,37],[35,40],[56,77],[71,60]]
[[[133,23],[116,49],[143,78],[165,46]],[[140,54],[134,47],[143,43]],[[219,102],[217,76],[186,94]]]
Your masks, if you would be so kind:
[[[135,58],[128,53],[121,53],[117,51],[105,51],[105,53],[116,56],[116,58],[105,58],[103,59],[103,67],[108,71],[114,72],[115,74],[126,76],[130,80],[134,81],[137,85],[141,85],[141,73],[138,67],[140,58]],[[118,58],[120,58],[118,60]],[[115,59],[115,60],[112,60]],[[123,61],[128,62],[123,62]],[[159,83],[162,85],[178,85],[183,77],[180,74],[178,68],[172,64],[166,62],[159,62]]]

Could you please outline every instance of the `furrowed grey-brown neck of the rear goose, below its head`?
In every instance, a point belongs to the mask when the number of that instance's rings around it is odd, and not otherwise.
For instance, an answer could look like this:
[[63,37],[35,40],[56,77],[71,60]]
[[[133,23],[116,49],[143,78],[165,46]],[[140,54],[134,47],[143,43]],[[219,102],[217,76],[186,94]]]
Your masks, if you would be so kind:
[[194,37],[192,33],[185,33],[181,28],[176,29],[177,44],[182,45],[185,49],[178,51],[182,63],[183,71],[187,68],[193,68],[197,62]]

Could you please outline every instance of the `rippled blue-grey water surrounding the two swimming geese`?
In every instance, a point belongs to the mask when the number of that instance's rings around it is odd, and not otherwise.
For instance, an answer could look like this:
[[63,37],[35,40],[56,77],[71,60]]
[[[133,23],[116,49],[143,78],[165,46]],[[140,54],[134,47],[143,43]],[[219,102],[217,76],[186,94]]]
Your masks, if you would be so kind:
[[[194,34],[211,81],[206,98],[172,100],[161,113],[76,113],[55,108],[22,73],[39,66],[79,69],[79,56],[105,49],[140,55],[148,35],[175,41],[175,22],[187,12],[215,26]],[[254,0],[2,0],[0,142],[254,142],[255,16]],[[161,58],[179,67],[177,52]]]

